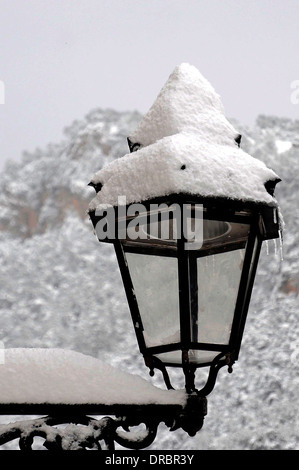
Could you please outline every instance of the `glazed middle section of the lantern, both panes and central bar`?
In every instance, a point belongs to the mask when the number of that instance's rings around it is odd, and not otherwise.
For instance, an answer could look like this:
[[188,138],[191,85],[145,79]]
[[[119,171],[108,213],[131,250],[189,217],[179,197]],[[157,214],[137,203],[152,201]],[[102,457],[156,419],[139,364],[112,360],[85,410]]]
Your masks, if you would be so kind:
[[165,365],[182,366],[188,350],[190,363],[205,366],[232,345],[252,218],[236,212],[225,220],[219,211],[213,218],[202,207],[182,218],[170,213],[149,211],[138,224],[127,219],[121,244],[139,312],[136,334],[142,351]]

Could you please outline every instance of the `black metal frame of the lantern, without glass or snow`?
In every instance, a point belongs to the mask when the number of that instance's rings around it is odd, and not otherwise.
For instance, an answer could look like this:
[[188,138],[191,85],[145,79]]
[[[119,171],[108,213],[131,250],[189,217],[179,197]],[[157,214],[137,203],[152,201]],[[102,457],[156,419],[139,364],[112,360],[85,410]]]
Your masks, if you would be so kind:
[[[273,185],[271,187],[273,187]],[[173,194],[165,198],[154,198],[145,202],[142,201],[142,204],[148,211],[145,214],[145,217],[149,216],[150,206],[152,204],[159,205],[161,203],[170,206],[177,204],[180,208],[182,208],[184,204],[201,204],[204,207],[203,217],[206,219],[225,221],[228,223],[248,224],[250,227],[248,240],[247,242],[244,241],[244,245],[242,246],[245,247],[246,245],[245,258],[235,304],[230,339],[226,345],[194,342],[190,337],[190,319],[192,318],[190,277],[194,275],[194,271],[192,271],[192,263],[199,256],[206,256],[207,254],[212,255],[213,247],[211,247],[208,252],[205,250],[186,250],[185,243],[187,240],[184,238],[183,231],[181,232],[182,236],[177,240],[176,253],[173,253],[169,247],[163,248],[163,245],[159,247],[155,243],[151,245],[146,242],[140,243],[134,240],[120,240],[117,237],[114,237],[113,239],[107,238],[105,240],[100,240],[113,243],[114,245],[139,350],[144,357],[146,366],[150,369],[150,374],[153,375],[154,369],[159,369],[163,374],[167,388],[171,389],[173,387],[170,382],[167,368],[181,367],[185,375],[186,391],[188,393],[196,393],[198,396],[204,397],[213,390],[218,371],[223,366],[227,365],[228,371],[231,372],[232,365],[238,359],[262,241],[279,237],[280,226],[278,210],[276,206],[250,201],[244,202],[226,198],[207,198],[201,196],[190,196],[188,194]],[[115,207],[114,209],[117,214],[115,219],[115,223],[117,224],[119,220],[118,214],[123,214],[124,211],[120,210],[119,207]],[[89,215],[94,227],[96,228],[96,225],[102,216],[96,215],[96,211],[90,212]],[[129,221],[130,217],[127,217],[126,224],[128,224]],[[117,230],[114,230],[113,233],[117,234]],[[126,252],[177,257],[180,315],[179,342],[147,347],[142,333],[142,317],[134,292],[128,263],[126,261]],[[182,351],[182,361],[180,364],[164,362],[156,357],[157,354],[174,350]],[[215,351],[216,353],[218,352],[218,354],[213,360],[198,364],[190,361],[188,353],[190,350]],[[196,369],[203,367],[210,368],[208,379],[204,387],[201,390],[198,390],[195,387],[195,371]]]

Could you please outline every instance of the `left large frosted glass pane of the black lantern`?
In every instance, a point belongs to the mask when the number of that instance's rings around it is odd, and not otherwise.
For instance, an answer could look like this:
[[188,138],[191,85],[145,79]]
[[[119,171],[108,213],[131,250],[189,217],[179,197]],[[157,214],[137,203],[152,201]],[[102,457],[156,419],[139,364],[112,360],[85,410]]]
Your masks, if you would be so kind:
[[177,259],[126,253],[146,345],[180,341]]

